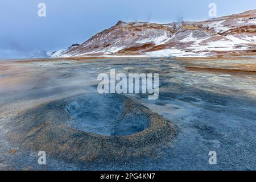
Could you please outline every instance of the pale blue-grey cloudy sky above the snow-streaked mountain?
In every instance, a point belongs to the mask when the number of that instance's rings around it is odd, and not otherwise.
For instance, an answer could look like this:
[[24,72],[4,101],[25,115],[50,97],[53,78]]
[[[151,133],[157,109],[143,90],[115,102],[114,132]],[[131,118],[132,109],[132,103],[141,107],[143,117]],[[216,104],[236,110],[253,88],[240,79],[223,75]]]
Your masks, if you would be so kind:
[[[38,4],[46,4],[46,17]],[[31,57],[82,43],[118,20],[168,23],[256,9],[255,0],[0,0],[0,58]],[[36,53],[35,53],[36,52]]]

